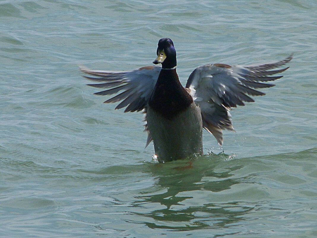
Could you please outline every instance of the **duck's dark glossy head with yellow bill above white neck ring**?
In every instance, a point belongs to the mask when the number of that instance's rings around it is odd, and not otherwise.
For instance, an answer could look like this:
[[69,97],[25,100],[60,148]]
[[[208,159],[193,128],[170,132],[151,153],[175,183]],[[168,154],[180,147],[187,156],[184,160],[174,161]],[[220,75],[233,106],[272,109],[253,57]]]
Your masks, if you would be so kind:
[[162,38],[159,40],[156,55],[158,57],[153,63],[161,63],[162,69],[172,69],[176,67],[176,50],[174,48],[174,43],[170,38]]

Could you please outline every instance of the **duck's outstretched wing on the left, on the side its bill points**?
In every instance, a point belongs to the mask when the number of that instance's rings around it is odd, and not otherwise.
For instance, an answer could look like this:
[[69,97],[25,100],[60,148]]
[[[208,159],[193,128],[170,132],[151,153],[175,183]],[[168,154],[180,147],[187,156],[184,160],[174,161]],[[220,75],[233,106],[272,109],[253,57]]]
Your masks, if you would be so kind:
[[[124,112],[141,111],[146,113],[147,103],[150,100],[155,84],[158,80],[161,67],[146,66],[130,72],[105,72],[81,68],[81,71],[89,76],[85,78],[99,82],[87,84],[95,88],[107,88],[104,91],[94,93],[96,95],[112,95],[123,91],[108,99],[104,103],[120,102],[115,109],[126,107]],[[146,119],[145,119],[146,121]],[[148,133],[146,146],[152,141],[152,136]]]

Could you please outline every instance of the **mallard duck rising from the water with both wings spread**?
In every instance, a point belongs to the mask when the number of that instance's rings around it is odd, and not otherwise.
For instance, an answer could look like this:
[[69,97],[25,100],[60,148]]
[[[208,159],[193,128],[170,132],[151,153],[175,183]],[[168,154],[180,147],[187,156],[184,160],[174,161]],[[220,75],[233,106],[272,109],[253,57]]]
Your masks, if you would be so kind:
[[[110,72],[81,67],[85,78],[98,83],[88,86],[105,88],[95,95],[113,95],[104,103],[120,102],[115,109],[145,114],[146,147],[153,142],[159,162],[203,155],[203,129],[223,145],[223,130],[235,131],[230,110],[254,102],[251,96],[263,96],[258,89],[279,79],[289,67],[293,54],[274,62],[255,65],[211,63],[197,67],[185,87],[176,72],[174,43],[159,40],[154,65],[132,71]],[[273,70],[274,69],[274,70]]]

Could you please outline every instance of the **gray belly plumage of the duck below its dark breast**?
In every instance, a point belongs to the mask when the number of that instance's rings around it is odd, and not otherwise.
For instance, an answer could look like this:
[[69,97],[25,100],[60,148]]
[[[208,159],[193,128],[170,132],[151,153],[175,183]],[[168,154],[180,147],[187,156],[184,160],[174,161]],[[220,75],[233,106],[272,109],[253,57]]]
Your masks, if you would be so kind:
[[203,121],[194,102],[171,120],[148,107],[146,119],[159,162],[203,154]]

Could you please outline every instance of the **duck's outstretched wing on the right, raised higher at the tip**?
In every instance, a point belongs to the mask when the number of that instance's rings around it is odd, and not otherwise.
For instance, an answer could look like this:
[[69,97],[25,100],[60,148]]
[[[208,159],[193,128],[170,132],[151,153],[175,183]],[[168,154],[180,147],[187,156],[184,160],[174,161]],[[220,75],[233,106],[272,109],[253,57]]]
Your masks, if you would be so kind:
[[264,82],[283,77],[272,75],[289,67],[271,69],[290,62],[292,58],[291,55],[279,62],[250,66],[207,64],[191,73],[186,88],[191,89],[194,101],[201,109],[204,129],[216,137],[220,146],[223,144],[222,130],[234,130],[230,108],[244,106],[244,102],[254,102],[250,96],[265,95],[256,89],[275,86]]

